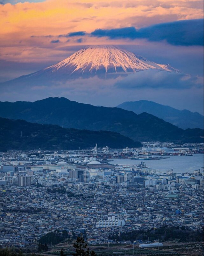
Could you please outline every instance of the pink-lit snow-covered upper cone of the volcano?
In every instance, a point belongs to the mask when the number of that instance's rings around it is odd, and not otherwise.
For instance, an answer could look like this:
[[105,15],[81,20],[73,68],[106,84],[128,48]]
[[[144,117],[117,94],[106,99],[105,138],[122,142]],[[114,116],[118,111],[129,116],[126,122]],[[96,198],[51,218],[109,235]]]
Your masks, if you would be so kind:
[[87,73],[131,73],[145,69],[161,69],[176,71],[169,65],[157,64],[115,46],[89,46],[85,47],[67,59],[45,68],[44,71],[63,72],[70,76],[78,73],[81,76]]

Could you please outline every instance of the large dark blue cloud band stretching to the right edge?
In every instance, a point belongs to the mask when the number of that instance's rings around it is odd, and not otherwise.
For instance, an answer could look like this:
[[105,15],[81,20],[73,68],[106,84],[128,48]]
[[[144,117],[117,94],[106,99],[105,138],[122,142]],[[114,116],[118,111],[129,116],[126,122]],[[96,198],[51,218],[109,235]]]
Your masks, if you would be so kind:
[[135,27],[96,29],[91,35],[96,37],[109,37],[110,39],[146,38],[149,41],[166,40],[172,45],[203,46],[203,19],[162,23],[139,30],[136,30]]

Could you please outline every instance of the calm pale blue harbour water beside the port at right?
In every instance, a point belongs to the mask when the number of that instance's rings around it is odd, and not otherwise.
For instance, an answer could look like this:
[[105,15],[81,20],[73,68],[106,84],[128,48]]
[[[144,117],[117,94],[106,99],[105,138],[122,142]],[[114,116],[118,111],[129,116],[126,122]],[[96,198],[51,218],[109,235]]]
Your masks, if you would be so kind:
[[[170,158],[161,160],[145,160],[146,166],[157,169],[159,171],[166,171],[173,169],[174,173],[193,173],[203,167],[203,154],[194,154],[193,156],[170,156]],[[110,164],[118,165],[137,165],[141,160],[130,159],[114,159]]]

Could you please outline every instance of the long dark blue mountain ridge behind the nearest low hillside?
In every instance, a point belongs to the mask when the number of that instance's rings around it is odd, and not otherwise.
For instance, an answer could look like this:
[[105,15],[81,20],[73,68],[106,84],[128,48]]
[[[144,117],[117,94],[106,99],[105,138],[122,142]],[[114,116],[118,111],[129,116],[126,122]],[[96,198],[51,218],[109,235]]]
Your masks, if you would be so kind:
[[[96,107],[64,97],[36,102],[0,102],[0,116],[27,122],[56,124],[66,128],[118,132],[134,141],[187,141],[189,136],[151,114],[135,114],[121,108]],[[190,141],[202,142],[203,130],[192,131]]]

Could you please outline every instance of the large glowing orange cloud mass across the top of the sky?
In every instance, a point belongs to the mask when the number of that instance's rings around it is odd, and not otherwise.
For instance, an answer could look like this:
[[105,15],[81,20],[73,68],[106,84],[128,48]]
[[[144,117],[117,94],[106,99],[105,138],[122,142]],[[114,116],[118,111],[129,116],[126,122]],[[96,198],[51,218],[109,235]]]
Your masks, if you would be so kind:
[[[61,56],[60,48],[80,45],[80,37],[60,39],[60,34],[101,28],[140,28],[181,19],[203,18],[202,1],[194,0],[47,0],[39,3],[0,5],[0,58],[27,62]],[[46,37],[52,35],[53,39]],[[36,36],[36,37],[31,37]],[[106,39],[84,37],[83,44],[102,44]],[[109,43],[113,43],[109,40]],[[116,42],[114,41],[114,44]],[[121,44],[122,41],[118,41]],[[125,42],[127,43],[127,41]],[[50,53],[52,50],[52,54]]]

